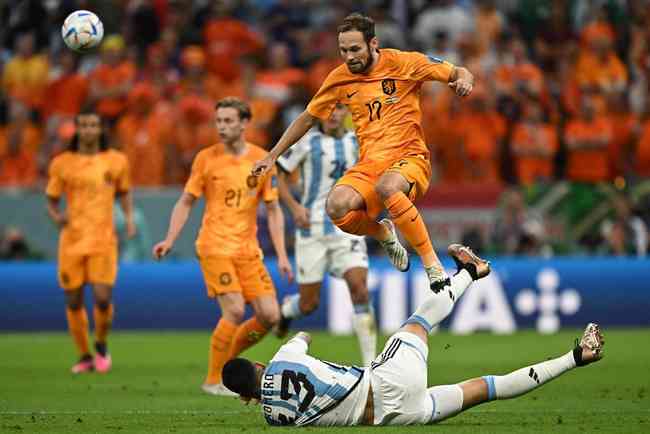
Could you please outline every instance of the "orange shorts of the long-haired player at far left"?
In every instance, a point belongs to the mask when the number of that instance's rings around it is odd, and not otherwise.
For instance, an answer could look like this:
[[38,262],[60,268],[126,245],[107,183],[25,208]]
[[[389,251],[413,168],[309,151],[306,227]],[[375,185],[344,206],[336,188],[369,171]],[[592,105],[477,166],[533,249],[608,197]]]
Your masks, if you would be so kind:
[[117,277],[117,246],[103,253],[74,255],[59,248],[59,285],[66,291],[81,288],[86,283],[115,285]]

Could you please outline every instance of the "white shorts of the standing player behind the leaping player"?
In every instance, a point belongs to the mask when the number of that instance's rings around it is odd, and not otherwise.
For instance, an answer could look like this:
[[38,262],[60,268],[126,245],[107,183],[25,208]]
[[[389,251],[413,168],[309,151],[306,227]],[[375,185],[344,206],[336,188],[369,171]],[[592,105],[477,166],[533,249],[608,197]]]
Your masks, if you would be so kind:
[[337,231],[320,237],[296,237],[298,283],[322,282],[325,273],[343,277],[351,268],[368,268],[364,237]]

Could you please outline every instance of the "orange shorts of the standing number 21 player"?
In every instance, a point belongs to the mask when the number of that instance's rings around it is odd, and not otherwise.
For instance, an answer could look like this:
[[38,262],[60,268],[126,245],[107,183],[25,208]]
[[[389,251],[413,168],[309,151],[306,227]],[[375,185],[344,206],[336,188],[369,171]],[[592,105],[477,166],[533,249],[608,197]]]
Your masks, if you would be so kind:
[[275,287],[261,258],[199,258],[208,297],[239,292],[246,302],[258,297],[275,297]]

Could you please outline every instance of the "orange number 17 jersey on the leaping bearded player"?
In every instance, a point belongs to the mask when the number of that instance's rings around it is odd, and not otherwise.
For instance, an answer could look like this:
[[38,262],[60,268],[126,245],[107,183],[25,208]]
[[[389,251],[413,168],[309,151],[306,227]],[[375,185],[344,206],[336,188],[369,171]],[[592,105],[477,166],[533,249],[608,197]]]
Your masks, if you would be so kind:
[[424,81],[448,82],[453,68],[424,54],[382,49],[368,74],[353,74],[345,64],[330,72],[307,111],[327,119],[337,103],[348,106],[360,162],[390,165],[406,154],[428,157],[420,124],[420,87]]

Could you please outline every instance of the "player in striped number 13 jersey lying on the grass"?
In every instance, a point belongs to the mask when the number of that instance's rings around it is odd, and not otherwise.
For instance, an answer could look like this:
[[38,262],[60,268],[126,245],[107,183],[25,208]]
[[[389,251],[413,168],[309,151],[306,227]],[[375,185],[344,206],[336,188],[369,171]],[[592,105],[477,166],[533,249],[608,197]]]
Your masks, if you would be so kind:
[[244,401],[259,401],[271,425],[427,424],[484,402],[514,398],[576,366],[600,360],[603,336],[598,325],[589,324],[580,343],[556,359],[506,375],[427,388],[431,329],[449,315],[473,280],[490,272],[489,263],[467,247],[452,244],[448,252],[458,273],[417,308],[369,368],[309,356],[311,338],[301,332],[280,347],[268,366],[241,358],[228,362],[224,385]]

